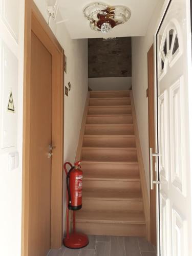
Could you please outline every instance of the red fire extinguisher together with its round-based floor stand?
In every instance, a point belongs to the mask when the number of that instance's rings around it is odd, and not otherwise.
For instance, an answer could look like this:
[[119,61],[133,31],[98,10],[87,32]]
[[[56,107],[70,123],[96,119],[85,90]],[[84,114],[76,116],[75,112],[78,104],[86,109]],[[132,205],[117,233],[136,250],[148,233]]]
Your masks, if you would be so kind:
[[[68,172],[66,165],[71,168]],[[67,236],[63,239],[63,244],[71,249],[83,248],[88,245],[89,239],[86,234],[77,233],[75,227],[75,212],[82,207],[82,170],[80,169],[80,161],[74,163],[70,162],[64,164],[64,169],[67,176]],[[73,210],[73,232],[69,233],[69,209]]]

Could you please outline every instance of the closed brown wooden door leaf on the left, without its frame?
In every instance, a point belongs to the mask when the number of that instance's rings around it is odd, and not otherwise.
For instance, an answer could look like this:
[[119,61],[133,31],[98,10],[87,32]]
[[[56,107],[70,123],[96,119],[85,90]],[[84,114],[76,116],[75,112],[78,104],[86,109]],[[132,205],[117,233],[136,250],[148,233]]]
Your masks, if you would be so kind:
[[51,238],[52,56],[31,34],[29,256],[47,255]]

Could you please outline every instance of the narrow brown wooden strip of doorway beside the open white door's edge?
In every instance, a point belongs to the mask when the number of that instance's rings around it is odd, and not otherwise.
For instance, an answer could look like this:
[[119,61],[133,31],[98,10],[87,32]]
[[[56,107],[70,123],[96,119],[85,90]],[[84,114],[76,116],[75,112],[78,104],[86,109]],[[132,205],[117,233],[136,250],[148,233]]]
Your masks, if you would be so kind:
[[[154,105],[154,45],[147,53],[148,66],[148,147],[155,149],[155,105]],[[156,177],[155,168],[153,177]],[[156,229],[156,187],[150,190],[151,242],[157,244]]]

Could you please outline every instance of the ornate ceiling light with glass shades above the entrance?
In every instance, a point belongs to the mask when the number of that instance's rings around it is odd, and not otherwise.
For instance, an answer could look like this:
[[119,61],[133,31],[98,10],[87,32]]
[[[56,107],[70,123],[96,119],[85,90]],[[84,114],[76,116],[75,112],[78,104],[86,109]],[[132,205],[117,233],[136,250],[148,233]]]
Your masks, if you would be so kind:
[[104,3],[91,3],[83,10],[84,16],[90,21],[91,29],[109,33],[115,26],[127,22],[131,11],[125,6],[110,7]]

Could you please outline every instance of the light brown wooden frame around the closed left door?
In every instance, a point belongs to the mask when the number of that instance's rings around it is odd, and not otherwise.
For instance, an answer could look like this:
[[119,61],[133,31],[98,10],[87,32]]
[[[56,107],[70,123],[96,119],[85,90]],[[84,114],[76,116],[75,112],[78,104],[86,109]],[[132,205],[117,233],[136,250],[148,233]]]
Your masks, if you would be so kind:
[[28,255],[29,239],[29,143],[30,143],[30,75],[31,31],[52,54],[52,142],[56,148],[51,167],[51,248],[62,245],[63,211],[63,56],[64,52],[45,19],[32,0],[25,0],[24,35],[24,119],[22,184],[22,256]]

